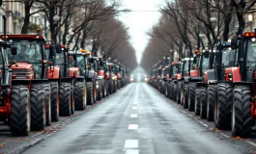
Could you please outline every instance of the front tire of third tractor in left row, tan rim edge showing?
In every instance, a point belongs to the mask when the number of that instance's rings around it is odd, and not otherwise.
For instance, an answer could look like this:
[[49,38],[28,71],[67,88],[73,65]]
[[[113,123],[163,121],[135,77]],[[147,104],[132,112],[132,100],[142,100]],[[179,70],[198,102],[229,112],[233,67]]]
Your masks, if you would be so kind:
[[74,109],[75,111],[83,111],[86,108],[86,86],[84,82],[76,82],[74,84]]

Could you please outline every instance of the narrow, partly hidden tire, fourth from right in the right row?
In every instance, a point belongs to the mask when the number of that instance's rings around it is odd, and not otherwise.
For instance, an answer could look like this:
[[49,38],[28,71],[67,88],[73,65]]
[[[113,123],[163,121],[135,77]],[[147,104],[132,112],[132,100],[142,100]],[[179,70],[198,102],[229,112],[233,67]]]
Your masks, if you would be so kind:
[[207,89],[201,89],[200,99],[200,118],[205,119],[207,117]]

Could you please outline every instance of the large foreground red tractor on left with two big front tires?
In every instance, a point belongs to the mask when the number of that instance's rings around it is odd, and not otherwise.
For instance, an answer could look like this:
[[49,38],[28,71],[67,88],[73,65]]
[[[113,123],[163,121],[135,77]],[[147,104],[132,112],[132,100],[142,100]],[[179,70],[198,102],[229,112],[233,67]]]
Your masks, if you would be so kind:
[[[46,76],[52,63],[46,61],[46,39],[40,33],[7,35],[6,40],[17,47],[16,53],[7,53],[12,69],[10,128],[14,136],[24,136],[30,130],[41,131],[50,125],[51,86]],[[50,48],[49,56],[55,56],[54,47]]]

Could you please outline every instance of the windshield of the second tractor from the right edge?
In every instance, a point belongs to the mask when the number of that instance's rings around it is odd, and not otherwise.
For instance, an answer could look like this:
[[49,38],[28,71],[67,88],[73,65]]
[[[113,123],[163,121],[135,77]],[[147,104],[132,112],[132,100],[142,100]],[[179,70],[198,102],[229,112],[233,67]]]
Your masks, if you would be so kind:
[[236,50],[230,50],[229,48],[224,48],[222,50],[222,65],[224,67],[234,66],[236,61]]

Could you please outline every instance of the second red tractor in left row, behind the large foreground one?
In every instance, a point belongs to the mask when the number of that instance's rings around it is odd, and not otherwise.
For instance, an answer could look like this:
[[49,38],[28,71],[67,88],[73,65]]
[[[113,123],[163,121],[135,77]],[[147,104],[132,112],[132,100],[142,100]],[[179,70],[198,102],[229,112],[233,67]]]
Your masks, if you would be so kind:
[[[57,44],[56,48],[58,49],[56,50],[56,56],[51,60],[55,66],[48,67],[47,79],[51,81],[52,86],[58,87],[59,116],[71,116],[74,114],[74,95],[76,95],[74,94],[74,86],[76,77],[80,76],[80,70],[70,64],[69,46]],[[52,104],[52,108],[54,110],[52,113],[58,112],[55,110],[55,102]]]

